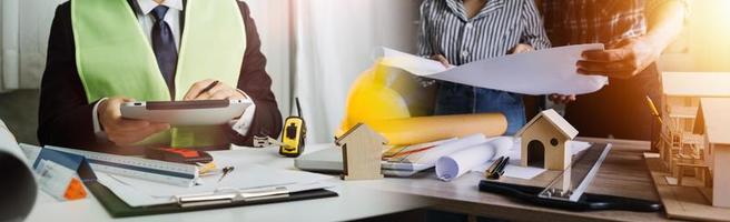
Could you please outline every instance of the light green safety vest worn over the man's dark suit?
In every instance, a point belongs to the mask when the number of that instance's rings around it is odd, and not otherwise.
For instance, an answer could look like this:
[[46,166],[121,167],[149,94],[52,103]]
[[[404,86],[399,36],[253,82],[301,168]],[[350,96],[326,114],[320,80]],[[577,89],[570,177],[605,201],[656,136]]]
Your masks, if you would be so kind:
[[[238,84],[246,29],[235,0],[188,0],[180,38],[176,100],[193,83],[216,79]],[[170,101],[151,44],[127,0],[72,0],[76,62],[89,103],[124,95],[138,101]],[[139,145],[211,147],[227,144],[223,127],[172,128]]]

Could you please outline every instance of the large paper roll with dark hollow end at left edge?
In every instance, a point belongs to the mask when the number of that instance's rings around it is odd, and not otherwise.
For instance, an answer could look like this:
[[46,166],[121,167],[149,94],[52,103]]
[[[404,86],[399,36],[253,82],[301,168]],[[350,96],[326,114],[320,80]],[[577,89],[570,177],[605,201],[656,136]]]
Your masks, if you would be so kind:
[[0,221],[23,221],[36,203],[38,186],[16,138],[0,120]]

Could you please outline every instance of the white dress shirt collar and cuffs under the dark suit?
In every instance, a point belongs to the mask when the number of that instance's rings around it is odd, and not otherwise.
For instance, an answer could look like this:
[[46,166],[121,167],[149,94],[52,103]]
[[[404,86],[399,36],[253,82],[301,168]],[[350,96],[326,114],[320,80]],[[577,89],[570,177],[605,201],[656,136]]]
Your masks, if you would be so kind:
[[[151,41],[151,34],[152,34],[152,27],[155,26],[155,17],[150,13],[155,7],[158,7],[157,2],[154,0],[136,0],[137,6],[132,6],[132,9],[137,13],[137,21],[139,22],[139,26],[142,28],[142,31],[145,32],[145,37],[147,37],[147,41],[149,44],[152,44]],[[165,22],[170,27],[170,31],[172,31],[172,38],[175,39],[175,46],[177,49],[180,48],[180,16],[182,14],[184,6],[182,6],[182,0],[165,0],[161,6],[168,7],[167,13],[165,13]],[[230,85],[230,87],[236,87],[236,85]],[[238,92],[243,93],[247,99],[250,100],[250,97],[248,97],[245,92],[238,90]],[[106,140],[107,134],[102,131],[101,124],[99,123],[99,117],[98,117],[98,108],[99,103],[102,101],[106,101],[108,98],[102,98],[99,100],[93,105],[93,112],[92,112],[92,119],[93,119],[93,132],[97,135],[97,139],[99,140]],[[253,102],[253,101],[251,101]],[[256,104],[251,104],[244,114],[238,119],[234,120],[230,122],[230,125],[234,131],[238,132],[241,135],[245,135],[248,132],[248,129],[250,128],[250,123],[254,121],[254,113],[256,111]]]

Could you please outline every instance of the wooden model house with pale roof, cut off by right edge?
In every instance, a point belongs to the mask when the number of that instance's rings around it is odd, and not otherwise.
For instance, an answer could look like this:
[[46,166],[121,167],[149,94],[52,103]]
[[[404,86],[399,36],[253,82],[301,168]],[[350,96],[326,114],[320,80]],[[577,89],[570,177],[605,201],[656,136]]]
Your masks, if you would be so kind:
[[[694,133],[704,137],[706,188],[700,189],[713,206],[730,208],[730,98],[703,98]],[[711,183],[710,183],[711,180]],[[708,188],[711,185],[711,188]]]

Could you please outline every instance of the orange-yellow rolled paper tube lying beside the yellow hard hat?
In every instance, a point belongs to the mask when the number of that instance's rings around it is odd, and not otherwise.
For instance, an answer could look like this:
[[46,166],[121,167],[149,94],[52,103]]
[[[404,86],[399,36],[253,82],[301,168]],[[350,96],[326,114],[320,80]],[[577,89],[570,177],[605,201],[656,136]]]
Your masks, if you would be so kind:
[[375,120],[366,124],[385,137],[392,145],[420,144],[475,133],[496,137],[507,129],[507,120],[502,113]]

